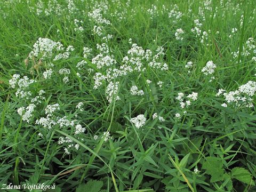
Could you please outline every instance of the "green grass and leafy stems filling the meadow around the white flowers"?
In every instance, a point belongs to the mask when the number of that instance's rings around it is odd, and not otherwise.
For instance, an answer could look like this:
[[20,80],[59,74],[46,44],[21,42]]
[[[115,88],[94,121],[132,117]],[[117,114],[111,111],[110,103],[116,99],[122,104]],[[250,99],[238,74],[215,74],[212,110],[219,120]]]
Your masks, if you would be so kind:
[[[249,38],[256,38],[255,1],[70,2],[0,2],[0,187],[45,183],[55,184],[55,191],[96,191],[93,185],[97,191],[256,191],[255,107],[238,107],[227,103],[223,95],[216,96],[219,89],[235,91],[256,79],[256,40],[251,47],[246,44]],[[95,9],[100,9],[111,25],[90,19],[89,12]],[[155,11],[150,14],[148,9]],[[171,10],[182,16],[169,18]],[[79,23],[82,32],[75,29],[79,27],[75,19],[83,21]],[[191,31],[196,19],[202,23],[199,36]],[[94,26],[102,28],[102,36],[93,34]],[[175,38],[179,28],[184,31],[182,41]],[[203,31],[207,36],[202,37]],[[103,41],[108,34],[113,38]],[[39,37],[61,42],[65,49],[72,45],[75,50],[58,61],[53,61],[57,50],[48,59],[41,60],[42,55],[30,58]],[[102,43],[108,50],[103,54],[112,55],[116,63],[99,68],[93,58],[102,52],[97,49]],[[145,70],[136,71],[137,60],[127,64],[133,72],[111,79],[114,84],[119,82],[116,93],[106,92],[109,81],[94,89],[95,73],[106,75],[108,69],[122,66],[133,43],[151,50],[153,56],[162,46],[164,53],[157,62],[166,63],[168,69],[150,67],[152,59],[142,59]],[[83,57],[84,47],[92,49],[87,58]],[[78,69],[76,65],[82,60],[87,63]],[[185,68],[189,61],[193,62],[190,69]],[[217,68],[206,76],[202,69],[208,61]],[[52,77],[45,79],[43,73],[50,68]],[[63,68],[70,74],[60,75]],[[26,88],[31,91],[29,98],[15,94],[17,86],[13,89],[9,83],[14,74],[36,81]],[[66,84],[65,76],[69,78]],[[211,77],[215,79],[211,81]],[[132,95],[134,85],[144,94]],[[45,91],[45,98],[36,105],[29,122],[22,121],[17,110],[26,109],[40,90]],[[182,109],[175,99],[180,92],[185,97],[196,92],[198,99],[190,99],[191,105]],[[254,92],[250,98],[255,105]],[[76,108],[79,102],[83,103],[82,111]],[[224,102],[227,107],[221,106]],[[75,125],[81,124],[86,131],[75,134],[74,124],[57,123],[52,129],[36,124],[54,103],[60,109],[50,118],[76,119]],[[165,121],[154,119],[154,113]],[[175,117],[177,113],[181,118]],[[140,114],[147,121],[138,129],[130,120]],[[64,149],[69,143],[58,143],[60,137],[73,144],[70,154]]]

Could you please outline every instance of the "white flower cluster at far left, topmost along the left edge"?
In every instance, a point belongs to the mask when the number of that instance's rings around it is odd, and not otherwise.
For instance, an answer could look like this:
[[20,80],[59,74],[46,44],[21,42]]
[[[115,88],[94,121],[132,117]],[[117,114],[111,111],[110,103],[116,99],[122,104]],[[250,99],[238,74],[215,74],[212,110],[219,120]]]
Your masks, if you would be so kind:
[[18,88],[15,95],[20,98],[28,98],[31,96],[31,91],[29,90],[30,84],[35,83],[33,79],[29,79],[27,76],[20,78],[19,74],[14,74],[12,79],[9,80],[10,87],[12,89]]

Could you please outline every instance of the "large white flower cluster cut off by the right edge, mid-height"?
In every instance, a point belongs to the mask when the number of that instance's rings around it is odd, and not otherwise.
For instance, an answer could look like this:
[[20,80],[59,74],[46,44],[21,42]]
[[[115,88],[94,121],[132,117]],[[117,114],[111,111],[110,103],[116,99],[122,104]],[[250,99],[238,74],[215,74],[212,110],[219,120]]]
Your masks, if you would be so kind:
[[[256,82],[249,81],[244,85],[238,87],[235,91],[226,92],[223,89],[219,89],[216,94],[217,97],[223,95],[226,102],[229,105],[233,105],[236,107],[253,107],[253,96],[256,92]],[[227,107],[227,103],[223,103],[223,107]]]

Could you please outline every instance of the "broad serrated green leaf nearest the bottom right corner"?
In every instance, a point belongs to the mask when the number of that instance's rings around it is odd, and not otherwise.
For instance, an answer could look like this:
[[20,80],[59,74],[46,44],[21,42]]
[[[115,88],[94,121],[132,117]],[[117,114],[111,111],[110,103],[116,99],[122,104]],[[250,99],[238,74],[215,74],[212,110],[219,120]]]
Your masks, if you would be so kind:
[[251,173],[243,167],[235,167],[231,170],[231,178],[237,179],[238,181],[244,182],[249,185],[255,185],[252,180]]

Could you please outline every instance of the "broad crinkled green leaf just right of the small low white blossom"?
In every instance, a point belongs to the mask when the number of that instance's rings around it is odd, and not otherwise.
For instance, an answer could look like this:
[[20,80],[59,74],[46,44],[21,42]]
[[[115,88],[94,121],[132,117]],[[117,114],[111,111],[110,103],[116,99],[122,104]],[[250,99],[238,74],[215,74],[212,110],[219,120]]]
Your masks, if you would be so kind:
[[221,158],[206,157],[206,161],[203,163],[202,169],[205,169],[205,173],[211,175],[211,182],[217,182],[223,180],[224,171],[222,166],[223,163]]

